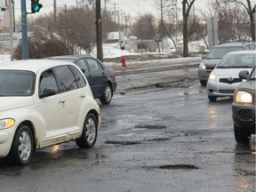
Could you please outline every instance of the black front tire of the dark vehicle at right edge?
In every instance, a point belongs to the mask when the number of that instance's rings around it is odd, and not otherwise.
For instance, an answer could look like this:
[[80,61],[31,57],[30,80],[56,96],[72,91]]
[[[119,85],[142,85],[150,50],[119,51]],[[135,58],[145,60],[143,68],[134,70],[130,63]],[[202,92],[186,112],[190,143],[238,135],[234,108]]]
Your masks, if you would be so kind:
[[238,127],[234,124],[234,133],[237,143],[249,143],[252,133],[246,127]]

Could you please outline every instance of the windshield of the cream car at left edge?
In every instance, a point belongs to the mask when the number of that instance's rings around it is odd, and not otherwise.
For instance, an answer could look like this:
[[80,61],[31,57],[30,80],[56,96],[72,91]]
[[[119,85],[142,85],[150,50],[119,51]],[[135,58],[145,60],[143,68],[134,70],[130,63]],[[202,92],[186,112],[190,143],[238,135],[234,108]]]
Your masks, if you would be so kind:
[[0,70],[0,96],[28,96],[34,91],[35,74],[30,71]]

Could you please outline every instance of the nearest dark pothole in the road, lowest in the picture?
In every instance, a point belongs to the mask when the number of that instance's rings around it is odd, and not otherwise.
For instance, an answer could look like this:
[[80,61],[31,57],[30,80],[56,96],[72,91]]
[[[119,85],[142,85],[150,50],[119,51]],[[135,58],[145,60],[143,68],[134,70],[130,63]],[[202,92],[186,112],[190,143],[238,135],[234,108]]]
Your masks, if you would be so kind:
[[197,167],[194,164],[164,164],[164,165],[158,165],[158,166],[143,166],[146,170],[151,169],[161,169],[161,170],[197,170],[199,167]]

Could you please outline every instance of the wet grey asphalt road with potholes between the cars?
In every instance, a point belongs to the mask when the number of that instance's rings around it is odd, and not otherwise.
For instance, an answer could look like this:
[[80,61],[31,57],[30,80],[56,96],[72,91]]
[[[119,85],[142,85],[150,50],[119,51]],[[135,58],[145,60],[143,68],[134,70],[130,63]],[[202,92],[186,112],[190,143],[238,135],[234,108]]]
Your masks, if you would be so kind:
[[0,191],[255,191],[255,136],[236,144],[231,103],[209,102],[197,81],[116,93],[100,105],[94,148],[70,142],[25,167],[0,162]]

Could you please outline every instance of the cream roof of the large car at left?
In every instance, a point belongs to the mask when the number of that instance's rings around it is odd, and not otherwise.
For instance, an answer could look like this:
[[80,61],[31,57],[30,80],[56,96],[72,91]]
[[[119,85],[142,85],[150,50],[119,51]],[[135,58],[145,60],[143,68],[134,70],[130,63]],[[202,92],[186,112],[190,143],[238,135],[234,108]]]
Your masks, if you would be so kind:
[[15,61],[8,61],[0,64],[1,69],[16,69],[16,70],[28,70],[37,72],[38,70],[46,69],[46,68],[53,68],[62,65],[73,65],[76,66],[72,62],[68,62],[66,60],[44,60],[44,59],[34,59],[34,60],[15,60]]

